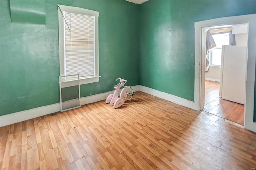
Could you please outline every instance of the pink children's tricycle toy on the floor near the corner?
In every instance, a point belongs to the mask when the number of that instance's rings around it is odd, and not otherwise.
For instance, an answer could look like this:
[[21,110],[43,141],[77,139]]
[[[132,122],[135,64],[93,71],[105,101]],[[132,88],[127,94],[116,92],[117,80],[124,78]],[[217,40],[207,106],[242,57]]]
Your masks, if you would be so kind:
[[[126,84],[127,80],[124,80],[123,78],[121,79],[120,77],[118,78],[120,80],[120,83],[114,85],[114,93],[108,95],[106,99],[106,103],[113,104],[114,103],[114,108],[118,108],[124,104],[124,100],[128,101],[132,98],[133,96],[133,90],[130,86],[124,86]],[[118,80],[116,79],[116,80]],[[118,90],[124,86],[122,89],[120,96],[118,98]]]

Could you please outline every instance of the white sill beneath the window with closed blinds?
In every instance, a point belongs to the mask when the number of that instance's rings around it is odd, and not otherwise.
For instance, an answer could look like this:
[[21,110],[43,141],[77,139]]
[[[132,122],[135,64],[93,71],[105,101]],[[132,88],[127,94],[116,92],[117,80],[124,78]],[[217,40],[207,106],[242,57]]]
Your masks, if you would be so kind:
[[[82,84],[89,84],[94,82],[99,82],[101,76],[92,76],[86,78],[80,78],[80,85]],[[77,80],[69,80],[66,82],[62,82],[61,87],[70,87],[70,86],[77,86]]]

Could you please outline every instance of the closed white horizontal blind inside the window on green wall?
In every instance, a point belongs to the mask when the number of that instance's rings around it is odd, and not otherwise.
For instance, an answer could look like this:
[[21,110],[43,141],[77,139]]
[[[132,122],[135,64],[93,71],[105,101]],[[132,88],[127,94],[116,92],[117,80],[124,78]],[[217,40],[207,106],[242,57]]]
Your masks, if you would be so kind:
[[65,75],[94,76],[94,16],[64,12]]

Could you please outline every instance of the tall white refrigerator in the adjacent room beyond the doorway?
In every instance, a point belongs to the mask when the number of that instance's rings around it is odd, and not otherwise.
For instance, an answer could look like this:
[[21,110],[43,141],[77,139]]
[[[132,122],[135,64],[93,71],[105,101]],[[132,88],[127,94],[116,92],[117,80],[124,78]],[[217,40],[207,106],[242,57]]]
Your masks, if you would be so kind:
[[222,46],[220,97],[244,104],[246,85],[246,47]]

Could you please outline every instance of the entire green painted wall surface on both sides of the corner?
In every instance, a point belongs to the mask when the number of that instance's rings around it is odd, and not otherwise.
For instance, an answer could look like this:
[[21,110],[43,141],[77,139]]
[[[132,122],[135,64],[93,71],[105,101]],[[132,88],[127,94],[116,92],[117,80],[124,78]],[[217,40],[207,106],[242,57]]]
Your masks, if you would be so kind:
[[194,100],[194,22],[256,13],[255,0],[18,1],[0,0],[0,115],[60,101],[57,4],[100,13],[102,77],[82,85],[81,97],[113,90],[122,77]]

